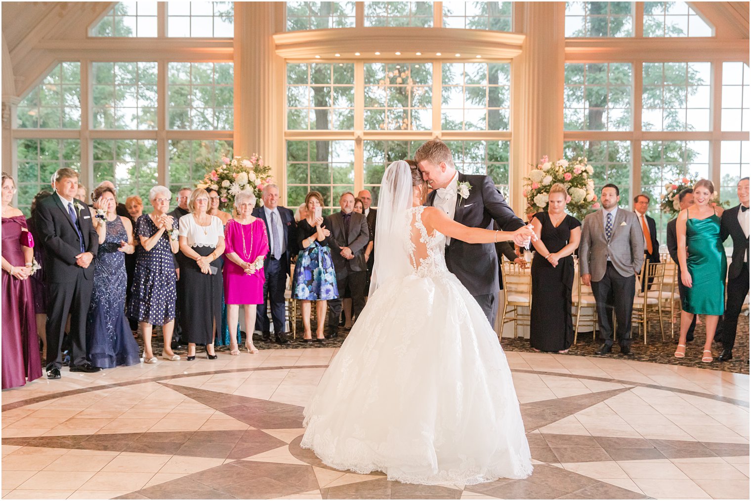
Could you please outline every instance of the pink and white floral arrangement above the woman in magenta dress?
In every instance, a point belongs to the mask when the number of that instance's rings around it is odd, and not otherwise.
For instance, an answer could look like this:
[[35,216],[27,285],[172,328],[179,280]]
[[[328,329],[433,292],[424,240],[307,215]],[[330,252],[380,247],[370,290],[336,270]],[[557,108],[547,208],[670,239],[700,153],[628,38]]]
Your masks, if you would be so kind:
[[264,165],[258,154],[252,157],[222,157],[207,162],[207,173],[196,186],[216,190],[219,193],[219,208],[234,212],[234,199],[237,193],[249,191],[255,195],[256,204],[261,206],[261,192],[267,184],[272,184],[271,167]]

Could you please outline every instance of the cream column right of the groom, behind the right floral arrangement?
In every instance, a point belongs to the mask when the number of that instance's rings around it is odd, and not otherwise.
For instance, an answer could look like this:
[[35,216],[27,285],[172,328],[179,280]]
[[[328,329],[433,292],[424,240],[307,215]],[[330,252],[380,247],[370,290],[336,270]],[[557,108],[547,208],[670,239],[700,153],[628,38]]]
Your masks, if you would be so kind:
[[511,205],[523,214],[522,178],[530,164],[563,153],[563,64],[565,4],[523,2],[515,23],[526,35],[523,52],[511,65]]

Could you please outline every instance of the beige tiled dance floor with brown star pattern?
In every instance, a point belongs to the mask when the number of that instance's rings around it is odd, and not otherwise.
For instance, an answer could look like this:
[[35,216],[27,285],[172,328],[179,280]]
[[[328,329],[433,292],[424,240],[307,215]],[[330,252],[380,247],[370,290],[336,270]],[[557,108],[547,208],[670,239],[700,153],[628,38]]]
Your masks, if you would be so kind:
[[324,466],[302,410],[334,348],[62,371],[2,393],[2,496],[164,498],[749,498],[749,377],[508,353],[535,471],[400,484]]

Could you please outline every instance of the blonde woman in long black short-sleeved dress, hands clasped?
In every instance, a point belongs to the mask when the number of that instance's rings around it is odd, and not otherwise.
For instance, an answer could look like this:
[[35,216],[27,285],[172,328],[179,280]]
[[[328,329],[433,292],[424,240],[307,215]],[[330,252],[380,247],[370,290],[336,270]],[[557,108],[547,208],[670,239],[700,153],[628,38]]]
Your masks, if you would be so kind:
[[537,241],[533,242],[529,346],[535,351],[566,353],[574,342],[572,254],[579,247],[581,223],[564,211],[568,194],[565,186],[553,184],[547,212],[532,218]]

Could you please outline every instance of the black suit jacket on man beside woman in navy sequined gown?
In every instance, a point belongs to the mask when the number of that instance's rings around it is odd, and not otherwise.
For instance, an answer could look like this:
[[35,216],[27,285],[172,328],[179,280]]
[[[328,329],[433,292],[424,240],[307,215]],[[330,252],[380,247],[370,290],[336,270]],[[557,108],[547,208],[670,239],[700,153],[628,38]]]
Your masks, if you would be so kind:
[[[99,236],[92,224],[89,207],[79,199],[73,199],[77,212],[79,228],[83,236],[83,248],[96,256],[99,248]],[[83,207],[79,209],[77,206]],[[80,240],[74,222],[68,214],[68,208],[62,205],[57,193],[42,199],[37,207],[36,225],[44,245],[44,276],[53,283],[76,281],[80,266],[76,256],[81,254]],[[83,269],[83,276],[94,276],[93,263]]]

